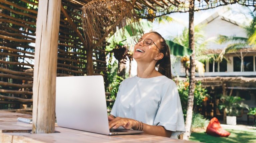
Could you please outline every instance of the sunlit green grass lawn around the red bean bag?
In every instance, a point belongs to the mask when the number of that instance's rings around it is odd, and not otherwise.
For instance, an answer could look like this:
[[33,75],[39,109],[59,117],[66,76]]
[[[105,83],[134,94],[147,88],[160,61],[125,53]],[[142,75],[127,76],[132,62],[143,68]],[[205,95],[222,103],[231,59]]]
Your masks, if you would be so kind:
[[256,143],[256,129],[226,129],[229,137],[214,137],[205,132],[193,132],[189,140],[205,143]]

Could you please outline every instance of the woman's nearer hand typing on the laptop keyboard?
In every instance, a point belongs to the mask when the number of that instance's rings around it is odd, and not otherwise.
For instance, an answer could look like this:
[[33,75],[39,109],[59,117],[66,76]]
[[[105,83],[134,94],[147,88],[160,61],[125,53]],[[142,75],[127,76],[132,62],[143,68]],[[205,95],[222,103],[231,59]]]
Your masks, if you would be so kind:
[[118,127],[122,126],[125,129],[131,129],[131,128],[135,128],[138,127],[138,123],[136,120],[134,119],[130,119],[130,118],[122,118],[122,117],[116,117],[112,120],[109,121],[109,129],[113,128],[113,129],[117,129]]

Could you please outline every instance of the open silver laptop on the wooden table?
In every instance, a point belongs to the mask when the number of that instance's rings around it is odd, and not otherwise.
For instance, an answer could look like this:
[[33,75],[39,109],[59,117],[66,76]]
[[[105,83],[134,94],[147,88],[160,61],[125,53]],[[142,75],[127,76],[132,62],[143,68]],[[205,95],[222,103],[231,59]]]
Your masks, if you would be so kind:
[[132,129],[109,130],[102,76],[57,77],[56,118],[60,127],[105,135],[143,132]]

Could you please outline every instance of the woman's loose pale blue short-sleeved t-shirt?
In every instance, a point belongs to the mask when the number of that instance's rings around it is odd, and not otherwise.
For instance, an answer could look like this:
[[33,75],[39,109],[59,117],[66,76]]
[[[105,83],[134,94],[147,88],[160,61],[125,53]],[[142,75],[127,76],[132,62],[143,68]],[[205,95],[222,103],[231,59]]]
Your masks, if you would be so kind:
[[111,113],[173,131],[171,138],[185,132],[179,93],[173,80],[166,76],[139,78],[121,82]]

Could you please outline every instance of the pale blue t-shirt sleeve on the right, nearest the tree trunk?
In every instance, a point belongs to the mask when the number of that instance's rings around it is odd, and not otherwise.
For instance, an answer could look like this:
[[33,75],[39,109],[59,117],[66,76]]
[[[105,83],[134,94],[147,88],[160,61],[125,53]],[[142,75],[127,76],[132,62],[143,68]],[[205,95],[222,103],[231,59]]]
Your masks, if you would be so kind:
[[175,82],[167,86],[162,94],[161,102],[154,120],[154,125],[163,126],[166,130],[173,131],[171,137],[185,132],[185,124],[179,93]]

